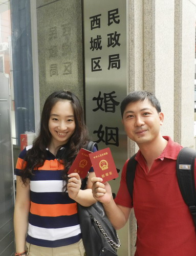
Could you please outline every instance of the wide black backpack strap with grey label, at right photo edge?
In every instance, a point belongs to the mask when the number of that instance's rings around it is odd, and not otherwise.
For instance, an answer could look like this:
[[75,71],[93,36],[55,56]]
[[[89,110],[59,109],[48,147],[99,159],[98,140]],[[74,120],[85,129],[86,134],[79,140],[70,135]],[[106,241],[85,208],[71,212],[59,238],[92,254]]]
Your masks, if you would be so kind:
[[184,147],[177,158],[177,177],[185,203],[191,212],[194,225],[196,227],[196,192],[194,180],[194,161],[196,151],[189,147]]

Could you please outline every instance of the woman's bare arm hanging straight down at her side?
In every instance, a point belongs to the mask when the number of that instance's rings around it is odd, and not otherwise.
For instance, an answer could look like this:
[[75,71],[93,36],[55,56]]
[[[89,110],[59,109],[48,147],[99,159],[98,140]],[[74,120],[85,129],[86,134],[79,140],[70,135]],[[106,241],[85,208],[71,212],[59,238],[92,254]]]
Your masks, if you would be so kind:
[[28,228],[30,209],[30,185],[23,184],[19,176],[16,176],[16,201],[14,207],[14,232],[16,252],[25,251],[25,241]]

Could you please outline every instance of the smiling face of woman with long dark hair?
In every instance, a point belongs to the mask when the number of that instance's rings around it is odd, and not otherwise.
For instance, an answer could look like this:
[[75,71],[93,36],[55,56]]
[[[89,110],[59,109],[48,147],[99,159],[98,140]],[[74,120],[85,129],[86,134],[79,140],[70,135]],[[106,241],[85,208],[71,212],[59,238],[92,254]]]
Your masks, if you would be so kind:
[[51,143],[60,146],[66,144],[75,131],[74,110],[70,101],[56,102],[50,112],[49,131],[52,135]]

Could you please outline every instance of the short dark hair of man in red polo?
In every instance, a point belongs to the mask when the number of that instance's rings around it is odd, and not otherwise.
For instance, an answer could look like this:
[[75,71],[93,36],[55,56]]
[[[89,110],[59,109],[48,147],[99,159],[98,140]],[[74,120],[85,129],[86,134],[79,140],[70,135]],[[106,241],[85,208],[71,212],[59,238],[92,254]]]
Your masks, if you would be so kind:
[[155,97],[155,95],[147,91],[134,91],[132,93],[129,93],[121,102],[120,110],[122,117],[124,110],[126,109],[126,106],[130,102],[144,101],[145,99],[149,100],[150,104],[156,108],[158,113],[161,112],[161,105],[159,103],[159,100]]

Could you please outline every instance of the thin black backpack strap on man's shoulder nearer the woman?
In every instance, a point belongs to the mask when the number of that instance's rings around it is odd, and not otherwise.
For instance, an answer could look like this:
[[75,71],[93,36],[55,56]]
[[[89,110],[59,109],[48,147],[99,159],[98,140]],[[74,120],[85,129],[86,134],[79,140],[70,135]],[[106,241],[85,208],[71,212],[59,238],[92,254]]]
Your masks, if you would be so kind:
[[133,191],[134,191],[134,178],[136,173],[136,165],[137,161],[135,160],[135,156],[129,158],[126,168],[126,185],[132,198],[132,205],[133,205]]

